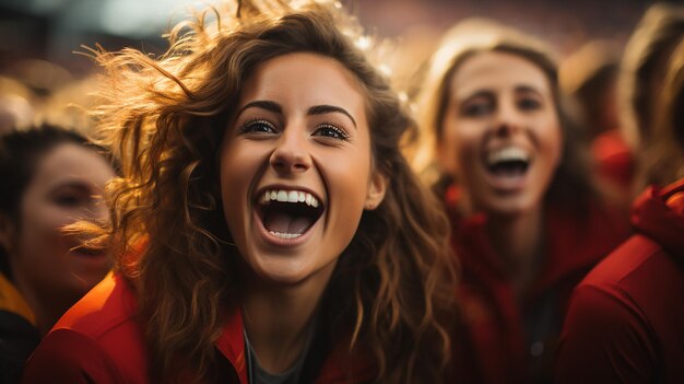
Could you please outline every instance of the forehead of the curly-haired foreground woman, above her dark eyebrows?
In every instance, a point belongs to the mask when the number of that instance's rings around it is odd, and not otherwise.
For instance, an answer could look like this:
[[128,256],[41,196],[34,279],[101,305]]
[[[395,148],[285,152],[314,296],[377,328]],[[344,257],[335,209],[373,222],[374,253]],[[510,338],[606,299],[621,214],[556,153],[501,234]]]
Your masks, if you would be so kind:
[[[263,62],[247,79],[240,106],[253,100],[282,104],[337,105],[363,114],[365,93],[359,80],[339,61],[321,55],[297,53]],[[365,117],[365,115],[364,115]]]

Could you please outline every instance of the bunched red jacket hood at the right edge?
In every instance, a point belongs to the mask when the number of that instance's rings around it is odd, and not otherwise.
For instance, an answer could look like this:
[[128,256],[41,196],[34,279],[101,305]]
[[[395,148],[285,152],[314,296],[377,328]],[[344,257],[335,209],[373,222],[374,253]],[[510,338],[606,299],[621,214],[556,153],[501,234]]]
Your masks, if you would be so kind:
[[632,224],[684,260],[684,178],[665,188],[647,188],[634,202]]

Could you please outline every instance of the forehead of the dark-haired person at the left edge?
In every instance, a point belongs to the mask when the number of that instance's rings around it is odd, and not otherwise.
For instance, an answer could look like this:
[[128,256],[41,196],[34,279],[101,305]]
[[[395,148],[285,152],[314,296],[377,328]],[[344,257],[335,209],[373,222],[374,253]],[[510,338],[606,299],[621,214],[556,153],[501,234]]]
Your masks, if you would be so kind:
[[62,143],[52,148],[36,164],[33,181],[35,184],[50,186],[75,177],[104,186],[114,176],[111,166],[94,150],[76,143]]

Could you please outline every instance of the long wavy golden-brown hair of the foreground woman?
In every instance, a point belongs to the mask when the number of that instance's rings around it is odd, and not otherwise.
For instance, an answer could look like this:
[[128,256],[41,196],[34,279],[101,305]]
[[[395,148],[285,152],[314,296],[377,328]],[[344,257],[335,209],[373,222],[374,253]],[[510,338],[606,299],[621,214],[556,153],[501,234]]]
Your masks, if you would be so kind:
[[[334,58],[363,85],[374,164],[389,179],[327,289],[330,336],[350,335],[350,353],[369,348],[379,382],[440,382],[456,311],[449,225],[401,155],[413,123],[355,46],[364,38],[356,20],[339,3],[241,1],[225,16],[222,15],[213,24],[207,14],[178,24],[158,59],[134,49],[96,53],[106,71],[101,139],[120,155],[125,175],[111,185],[106,238],[138,289],[152,372],[173,377],[172,362],[182,356],[200,377],[211,376],[221,309],[237,304],[238,255],[221,209],[219,146],[255,69],[308,51]],[[131,257],[133,248],[141,255]]]

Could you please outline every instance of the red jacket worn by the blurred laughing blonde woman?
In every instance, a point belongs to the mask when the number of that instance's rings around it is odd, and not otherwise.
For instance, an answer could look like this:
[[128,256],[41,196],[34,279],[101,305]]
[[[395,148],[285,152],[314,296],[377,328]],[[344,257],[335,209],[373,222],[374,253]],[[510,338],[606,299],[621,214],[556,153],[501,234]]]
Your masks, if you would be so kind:
[[[450,189],[448,207],[458,191]],[[581,219],[547,210],[542,269],[521,302],[485,233],[486,218],[451,212],[452,245],[461,265],[462,329],[455,340],[460,383],[533,383],[552,375],[553,351],[573,288],[628,235],[617,213],[594,209]]]

